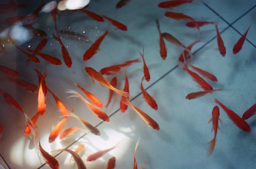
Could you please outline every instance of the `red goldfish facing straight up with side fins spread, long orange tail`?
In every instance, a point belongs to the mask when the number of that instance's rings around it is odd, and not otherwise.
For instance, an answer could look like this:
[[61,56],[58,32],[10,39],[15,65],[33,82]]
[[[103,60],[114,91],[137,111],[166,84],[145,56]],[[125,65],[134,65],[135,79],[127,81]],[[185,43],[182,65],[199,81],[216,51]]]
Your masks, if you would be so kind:
[[215,106],[212,109],[212,118],[209,120],[208,123],[212,122],[212,129],[211,132],[214,130],[214,138],[208,142],[207,144],[209,144],[209,149],[208,149],[208,156],[210,156],[214,150],[215,147],[215,143],[216,143],[216,136],[217,136],[217,131],[218,129],[220,130],[220,127],[218,126],[218,122],[220,121],[220,123],[222,124],[219,116],[220,116],[220,110],[218,106]]

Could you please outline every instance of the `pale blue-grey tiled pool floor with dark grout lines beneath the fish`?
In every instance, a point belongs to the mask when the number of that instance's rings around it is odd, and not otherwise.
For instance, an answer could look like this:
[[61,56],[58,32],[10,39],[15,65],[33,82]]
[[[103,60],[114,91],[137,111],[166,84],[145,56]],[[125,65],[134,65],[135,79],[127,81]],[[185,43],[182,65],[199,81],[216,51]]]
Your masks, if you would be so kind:
[[[45,2],[45,1],[44,1]],[[26,67],[26,56],[18,51],[14,45],[6,45],[6,54],[0,54],[0,64],[17,70],[19,79],[38,85],[38,77],[32,68],[41,72],[47,70],[46,83],[69,110],[74,105],[74,98],[67,98],[70,94],[65,89],[80,90],[70,83],[70,78],[102,100],[103,106],[108,101],[109,89],[102,87],[98,82],[95,85],[84,71],[85,67],[100,69],[119,64],[127,60],[140,58],[139,52],[145,49],[145,61],[149,68],[150,82],[143,81],[144,88],[154,97],[158,110],[153,110],[142,98],[140,82],[143,76],[143,62],[134,63],[127,67],[127,76],[130,85],[130,99],[132,103],[150,115],[160,127],[159,131],[149,128],[131,110],[125,113],[119,110],[120,96],[115,94],[108,109],[102,108],[110,116],[110,122],[105,123],[90,112],[84,102],[77,98],[74,113],[98,127],[101,136],[86,134],[79,131],[66,140],[58,138],[48,143],[48,137],[54,127],[62,118],[58,107],[50,93],[46,96],[46,112],[40,116],[36,124],[36,131],[41,138],[42,147],[51,152],[59,148],[75,150],[80,144],[85,145],[82,158],[85,160],[93,152],[110,148],[121,140],[120,146],[102,158],[86,162],[87,168],[105,168],[108,159],[116,157],[116,168],[131,168],[135,144],[140,137],[136,152],[138,166],[147,159],[144,167],[153,168],[254,168],[255,166],[255,117],[248,119],[251,132],[240,130],[220,108],[220,118],[223,125],[219,127],[215,149],[207,157],[208,143],[214,137],[211,134],[212,124],[207,124],[211,118],[211,110],[216,105],[211,96],[195,100],[186,100],[188,93],[201,90],[190,76],[177,66],[177,58],[182,49],[165,41],[167,58],[162,60],[159,52],[159,34],[156,29],[155,19],[158,17],[162,32],[168,32],[176,37],[185,46],[201,40],[194,45],[194,66],[207,70],[217,76],[218,82],[209,82],[214,89],[232,89],[228,92],[211,94],[220,102],[242,116],[243,112],[255,102],[255,13],[256,2],[233,1],[199,1],[196,4],[185,4],[173,10],[158,8],[161,1],[131,1],[121,9],[115,9],[116,1],[91,1],[89,7],[100,15],[106,15],[122,22],[128,31],[115,30],[111,26],[110,33],[105,37],[100,50],[90,60],[83,61],[84,52],[108,28],[109,22],[97,22],[82,12],[65,11],[57,17],[57,27],[60,30],[72,30],[88,37],[89,41],[81,41],[72,37],[62,38],[63,43],[72,58],[72,67],[64,64],[59,43],[52,37],[55,33],[54,22],[50,13],[41,13],[33,25],[44,30],[48,36],[48,43],[42,50],[43,53],[58,57],[63,64],[55,66],[45,63],[41,58],[40,64],[30,63]],[[5,1],[4,3],[9,3]],[[17,1],[22,3],[22,1]],[[15,12],[1,14],[1,18],[22,16],[32,13],[40,4],[36,1],[26,1],[27,7]],[[216,30],[214,25],[205,25],[200,28],[200,35],[194,29],[185,26],[186,21],[176,21],[164,16],[167,11],[182,12],[195,20],[216,21],[220,16],[218,28],[226,47],[227,54],[222,57],[218,51]],[[3,20],[4,20],[3,19]],[[1,19],[2,20],[2,19]],[[247,40],[241,51],[234,55],[232,49],[241,35],[252,25],[247,35]],[[8,27],[5,24],[1,24]],[[83,33],[85,31],[85,33]],[[64,37],[62,35],[62,37]],[[18,45],[24,49],[30,45],[35,49],[42,40],[33,37],[30,41]],[[125,82],[124,70],[121,73],[105,76],[110,81],[114,76],[118,78],[117,88],[122,89]],[[0,81],[0,88],[11,94],[27,115],[32,118],[37,112],[37,94],[29,93],[13,84]],[[85,96],[84,96],[85,97]],[[85,97],[86,98],[86,97]],[[0,168],[49,168],[48,164],[36,151],[31,134],[24,136],[25,117],[17,108],[8,106],[3,97],[0,97],[0,123],[1,132],[1,158]],[[82,125],[70,117],[64,128]],[[38,139],[36,139],[38,144]],[[70,154],[63,152],[58,155],[60,168],[70,168]],[[73,162],[71,162],[73,164]],[[73,165],[76,168],[76,164]]]

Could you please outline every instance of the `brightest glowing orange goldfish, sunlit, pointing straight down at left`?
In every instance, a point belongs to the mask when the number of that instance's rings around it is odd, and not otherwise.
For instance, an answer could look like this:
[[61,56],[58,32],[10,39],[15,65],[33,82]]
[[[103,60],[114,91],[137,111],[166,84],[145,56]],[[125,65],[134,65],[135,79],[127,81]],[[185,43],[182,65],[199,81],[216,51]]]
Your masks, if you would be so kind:
[[45,95],[43,91],[43,81],[45,80],[47,74],[44,72],[43,76],[41,77],[41,83],[39,86],[39,92],[38,92],[38,111],[40,112],[41,115],[44,115],[45,109],[46,109],[46,104],[45,104]]

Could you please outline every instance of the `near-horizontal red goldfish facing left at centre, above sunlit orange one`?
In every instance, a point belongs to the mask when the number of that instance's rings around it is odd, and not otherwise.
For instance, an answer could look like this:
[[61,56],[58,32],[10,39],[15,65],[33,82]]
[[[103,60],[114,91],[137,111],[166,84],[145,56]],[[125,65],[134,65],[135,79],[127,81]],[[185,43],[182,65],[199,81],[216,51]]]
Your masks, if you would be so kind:
[[120,72],[121,68],[130,66],[132,63],[137,63],[137,62],[140,62],[140,60],[139,59],[128,60],[128,61],[125,61],[121,64],[117,64],[117,65],[113,65],[113,66],[110,66],[110,67],[103,68],[99,71],[99,73],[102,74],[102,75],[112,75],[112,74]]

